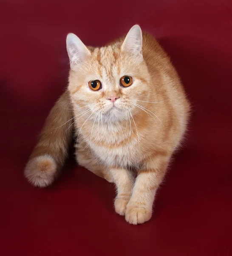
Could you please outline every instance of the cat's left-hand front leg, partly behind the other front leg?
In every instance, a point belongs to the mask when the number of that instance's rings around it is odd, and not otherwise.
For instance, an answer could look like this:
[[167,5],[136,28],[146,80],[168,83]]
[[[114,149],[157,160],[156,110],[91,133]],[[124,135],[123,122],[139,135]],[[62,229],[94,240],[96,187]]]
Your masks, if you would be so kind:
[[117,196],[114,201],[115,211],[120,215],[125,215],[133,189],[133,175],[126,169],[110,169],[110,174],[117,189]]

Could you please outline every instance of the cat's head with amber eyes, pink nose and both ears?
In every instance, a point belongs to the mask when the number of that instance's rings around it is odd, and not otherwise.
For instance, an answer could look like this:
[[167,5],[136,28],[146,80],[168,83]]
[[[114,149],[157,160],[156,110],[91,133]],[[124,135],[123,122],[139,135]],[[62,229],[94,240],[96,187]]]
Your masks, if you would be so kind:
[[149,93],[150,75],[142,55],[142,32],[133,26],[124,39],[106,47],[86,47],[74,34],[67,36],[69,86],[74,108],[108,122],[139,112],[135,99]]

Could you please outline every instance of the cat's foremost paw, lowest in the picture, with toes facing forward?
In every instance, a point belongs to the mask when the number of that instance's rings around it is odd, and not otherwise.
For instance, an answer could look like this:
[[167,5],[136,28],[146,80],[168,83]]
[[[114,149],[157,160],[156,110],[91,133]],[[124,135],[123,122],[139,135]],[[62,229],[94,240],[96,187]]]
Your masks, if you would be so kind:
[[137,225],[149,221],[151,215],[152,210],[131,205],[127,207],[125,218],[130,224]]

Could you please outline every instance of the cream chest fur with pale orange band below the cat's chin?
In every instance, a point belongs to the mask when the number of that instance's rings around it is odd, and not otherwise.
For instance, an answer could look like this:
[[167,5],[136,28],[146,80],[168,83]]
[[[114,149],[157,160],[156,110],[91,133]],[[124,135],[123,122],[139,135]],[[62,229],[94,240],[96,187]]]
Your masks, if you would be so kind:
[[96,124],[93,130],[91,127],[90,130],[81,132],[79,147],[86,147],[87,154],[97,158],[105,166],[137,167],[142,160],[142,150],[133,128],[127,128],[102,128]]

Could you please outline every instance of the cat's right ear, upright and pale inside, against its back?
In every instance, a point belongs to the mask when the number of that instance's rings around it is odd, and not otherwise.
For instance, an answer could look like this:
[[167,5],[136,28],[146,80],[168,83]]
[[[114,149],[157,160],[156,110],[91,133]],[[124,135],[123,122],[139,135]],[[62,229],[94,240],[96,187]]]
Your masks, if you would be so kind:
[[142,57],[142,31],[139,25],[134,25],[127,33],[122,44],[122,51]]

